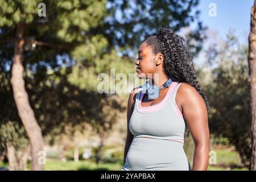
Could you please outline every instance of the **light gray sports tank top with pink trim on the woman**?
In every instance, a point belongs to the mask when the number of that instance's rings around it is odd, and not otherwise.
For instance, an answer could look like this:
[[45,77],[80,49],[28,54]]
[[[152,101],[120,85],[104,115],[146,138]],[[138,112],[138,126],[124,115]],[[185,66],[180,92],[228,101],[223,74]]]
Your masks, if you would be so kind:
[[134,110],[129,122],[129,129],[134,137],[184,143],[188,126],[175,101],[177,89],[181,84],[182,82],[172,82],[164,99],[152,106],[141,106],[144,93],[139,91],[136,94]]

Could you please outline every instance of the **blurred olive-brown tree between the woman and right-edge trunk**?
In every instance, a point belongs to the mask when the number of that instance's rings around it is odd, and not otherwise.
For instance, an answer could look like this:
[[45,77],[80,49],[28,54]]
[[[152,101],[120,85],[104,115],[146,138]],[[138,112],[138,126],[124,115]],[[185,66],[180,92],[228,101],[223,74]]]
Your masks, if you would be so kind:
[[240,45],[230,31],[224,47],[215,47],[209,55],[210,81],[205,88],[212,107],[209,114],[210,132],[225,137],[236,147],[244,166],[250,162],[250,110],[248,82],[248,49]]

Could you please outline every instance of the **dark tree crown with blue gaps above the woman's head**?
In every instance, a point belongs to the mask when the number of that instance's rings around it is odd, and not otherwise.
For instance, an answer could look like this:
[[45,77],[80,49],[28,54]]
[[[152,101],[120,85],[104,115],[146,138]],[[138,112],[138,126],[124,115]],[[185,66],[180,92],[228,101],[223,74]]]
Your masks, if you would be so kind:
[[109,0],[106,4],[105,23],[93,31],[105,30],[104,35],[110,46],[118,47],[123,55],[132,55],[147,36],[160,28],[168,27],[178,32],[196,22],[195,30],[191,30],[187,37],[188,45],[196,55],[206,38],[206,27],[199,20],[200,11],[196,9],[198,4],[199,0]]

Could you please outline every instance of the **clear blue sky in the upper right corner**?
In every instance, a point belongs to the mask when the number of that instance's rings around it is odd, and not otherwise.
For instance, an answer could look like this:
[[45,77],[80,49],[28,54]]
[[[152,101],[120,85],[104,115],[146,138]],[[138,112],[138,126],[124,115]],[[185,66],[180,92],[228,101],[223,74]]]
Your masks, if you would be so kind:
[[[208,15],[210,3],[216,4],[216,17]],[[249,34],[250,9],[253,3],[254,0],[200,0],[200,19],[210,30],[218,31],[222,38],[228,34],[229,28],[234,28],[240,40],[243,40],[244,33]]]

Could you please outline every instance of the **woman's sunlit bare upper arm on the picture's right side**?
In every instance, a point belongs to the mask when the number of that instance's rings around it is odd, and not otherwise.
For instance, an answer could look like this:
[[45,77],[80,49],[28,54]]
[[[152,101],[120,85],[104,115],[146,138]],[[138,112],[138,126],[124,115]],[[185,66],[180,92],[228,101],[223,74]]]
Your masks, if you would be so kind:
[[178,90],[184,119],[195,144],[209,145],[208,113],[203,97],[189,84],[180,85]]

